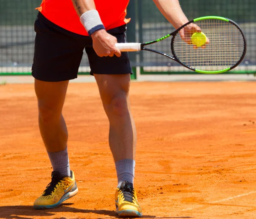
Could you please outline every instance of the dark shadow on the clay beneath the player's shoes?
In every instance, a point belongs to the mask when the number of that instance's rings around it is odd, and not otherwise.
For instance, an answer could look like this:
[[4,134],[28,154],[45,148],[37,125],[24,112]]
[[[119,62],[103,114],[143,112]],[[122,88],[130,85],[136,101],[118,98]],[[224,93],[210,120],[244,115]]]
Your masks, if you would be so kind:
[[[33,206],[26,206],[26,205],[14,205],[14,206],[0,206],[0,218],[5,219],[33,219],[35,216],[37,217],[47,217],[47,216],[54,216],[56,213],[61,212],[72,212],[74,213],[74,218],[76,219],[76,213],[95,213],[99,214],[98,219],[107,219],[107,218],[120,218],[116,215],[114,210],[90,210],[90,209],[79,209],[79,208],[72,208],[69,207],[73,205],[73,203],[64,203],[58,208],[53,209],[45,209],[45,210],[35,210]],[[70,218],[70,216],[69,216]],[[80,217],[81,218],[81,217]],[[171,219],[171,218],[192,218],[192,217],[157,217],[151,215],[144,215],[142,218],[145,219]],[[66,219],[65,216],[56,218],[56,219]],[[86,219],[86,217],[84,218]]]

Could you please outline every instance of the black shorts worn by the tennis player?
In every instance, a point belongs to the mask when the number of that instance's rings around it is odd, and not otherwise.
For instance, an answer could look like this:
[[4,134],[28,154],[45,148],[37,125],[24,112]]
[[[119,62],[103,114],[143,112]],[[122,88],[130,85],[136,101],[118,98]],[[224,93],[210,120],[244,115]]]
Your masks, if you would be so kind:
[[[126,26],[108,30],[125,43]],[[65,81],[77,78],[83,50],[88,56],[90,74],[132,74],[127,52],[121,57],[99,57],[93,50],[91,37],[67,31],[38,13],[35,20],[35,54],[32,76],[42,81]]]

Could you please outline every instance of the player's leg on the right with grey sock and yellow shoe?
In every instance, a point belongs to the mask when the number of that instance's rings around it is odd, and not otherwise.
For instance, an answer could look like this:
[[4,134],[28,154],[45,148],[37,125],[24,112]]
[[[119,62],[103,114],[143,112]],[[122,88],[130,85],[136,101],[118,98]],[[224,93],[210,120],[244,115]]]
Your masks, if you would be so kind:
[[136,128],[131,115],[130,74],[94,74],[109,120],[109,145],[116,165],[118,186],[116,212],[119,216],[142,216],[133,187]]

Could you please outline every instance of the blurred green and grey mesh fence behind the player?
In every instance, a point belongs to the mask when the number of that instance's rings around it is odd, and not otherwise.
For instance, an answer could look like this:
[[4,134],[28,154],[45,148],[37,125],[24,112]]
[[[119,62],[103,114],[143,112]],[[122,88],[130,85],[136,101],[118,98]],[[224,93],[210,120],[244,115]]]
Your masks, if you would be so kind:
[[[33,25],[38,13],[35,8],[40,3],[41,0],[0,0],[0,75],[31,74],[35,39]],[[227,74],[256,72],[255,0],[180,0],[180,5],[189,20],[215,15],[238,23],[247,38],[247,54],[243,62]],[[128,42],[148,42],[174,31],[152,0],[130,0],[128,17],[131,17],[127,28]],[[170,41],[163,40],[153,48],[170,54]],[[129,56],[134,73],[138,68],[140,74],[186,74],[189,71],[152,52],[133,52]],[[88,74],[88,66],[84,55],[79,74]],[[136,74],[133,77],[136,78]]]

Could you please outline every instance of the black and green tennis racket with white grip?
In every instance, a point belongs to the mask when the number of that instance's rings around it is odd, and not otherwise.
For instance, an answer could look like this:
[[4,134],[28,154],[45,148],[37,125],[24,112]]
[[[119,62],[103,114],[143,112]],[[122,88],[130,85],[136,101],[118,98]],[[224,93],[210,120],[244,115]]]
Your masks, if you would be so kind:
[[[199,26],[201,30],[189,26]],[[191,30],[190,30],[191,29]],[[190,31],[189,31],[190,30]],[[186,39],[184,41],[184,37]],[[170,52],[172,56],[151,48],[153,43],[171,37]],[[184,24],[171,34],[148,43],[116,43],[120,51],[146,50],[161,54],[180,63],[192,71],[204,74],[218,74],[235,68],[246,53],[244,32],[233,20],[208,16],[199,17]]]

